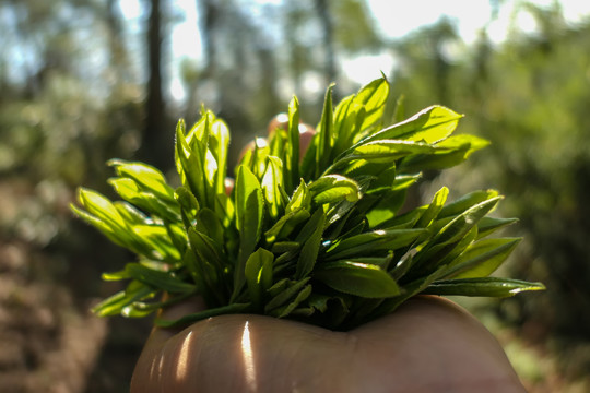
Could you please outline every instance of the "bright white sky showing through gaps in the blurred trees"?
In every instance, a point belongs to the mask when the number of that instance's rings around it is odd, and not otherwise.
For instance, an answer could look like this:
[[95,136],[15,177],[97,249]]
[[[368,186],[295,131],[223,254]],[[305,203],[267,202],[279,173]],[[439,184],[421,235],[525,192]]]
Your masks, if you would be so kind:
[[[121,11],[129,21],[141,17],[141,0],[122,0]],[[382,35],[388,38],[401,37],[424,25],[437,22],[442,15],[450,17],[467,44],[472,43],[479,32],[487,23],[487,33],[493,41],[500,43],[506,38],[511,23],[524,32],[534,32],[535,23],[531,15],[519,13],[515,16],[515,8],[523,0],[505,0],[497,17],[489,23],[492,9],[489,0],[367,0],[371,13],[376,17]],[[551,5],[554,0],[530,1],[540,5]],[[176,99],[182,99],[184,91],[178,79],[178,62],[181,59],[199,61],[202,59],[201,41],[198,32],[198,11],[196,0],[175,0],[175,10],[179,11],[180,21],[172,33],[173,62],[170,63],[170,93]],[[268,4],[280,4],[281,0],[255,0],[252,12]],[[403,5],[400,5],[403,4]],[[570,23],[579,22],[590,14],[589,0],[562,0],[563,12]],[[349,79],[357,83],[366,83],[378,75],[381,70],[391,70],[394,59],[389,53],[370,55],[344,59],[343,71]],[[362,70],[362,71],[361,71]]]

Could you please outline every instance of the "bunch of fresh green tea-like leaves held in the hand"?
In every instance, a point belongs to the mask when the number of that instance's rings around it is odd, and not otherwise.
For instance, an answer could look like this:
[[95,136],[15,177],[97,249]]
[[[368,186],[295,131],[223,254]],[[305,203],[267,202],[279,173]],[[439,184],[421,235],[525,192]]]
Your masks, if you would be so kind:
[[[514,218],[488,216],[502,196],[471,192],[402,212],[421,172],[464,162],[487,141],[452,135],[461,115],[441,107],[385,123],[387,80],[378,79],[323,114],[299,159],[299,104],[288,122],[241,158],[226,193],[229,132],[211,111],[176,129],[174,189],[142,163],[111,160],[109,183],[123,201],[80,189],[84,221],[137,253],[104,279],[130,281],[99,315],[144,317],[202,297],[208,309],[160,325],[224,313],[261,313],[347,330],[417,294],[506,297],[540,283],[489,277],[519,242],[488,238]],[[394,117],[400,118],[400,110]],[[162,297],[163,294],[167,294]]]

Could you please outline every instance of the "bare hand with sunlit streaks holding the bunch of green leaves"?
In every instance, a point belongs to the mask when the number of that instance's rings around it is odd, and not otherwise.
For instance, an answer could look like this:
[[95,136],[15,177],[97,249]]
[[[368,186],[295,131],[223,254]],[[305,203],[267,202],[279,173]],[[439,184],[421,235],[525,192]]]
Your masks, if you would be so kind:
[[497,341],[477,320],[449,300],[421,296],[346,333],[248,314],[211,318],[179,333],[154,329],[131,392],[524,389]]

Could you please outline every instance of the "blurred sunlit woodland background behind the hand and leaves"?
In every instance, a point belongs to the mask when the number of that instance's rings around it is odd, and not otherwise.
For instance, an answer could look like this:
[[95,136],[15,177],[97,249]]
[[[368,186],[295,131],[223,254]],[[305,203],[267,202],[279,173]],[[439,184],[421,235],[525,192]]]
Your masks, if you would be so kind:
[[[384,72],[406,115],[465,114],[493,145],[432,174],[458,196],[496,188],[524,241],[504,274],[545,293],[462,301],[530,392],[590,391],[590,2],[0,0],[0,391],[127,392],[150,320],[87,311],[133,258],[68,209],[110,196],[111,157],[170,172],[174,127],[201,104],[232,148],[296,94],[316,123]],[[172,175],[170,172],[170,176]]]

